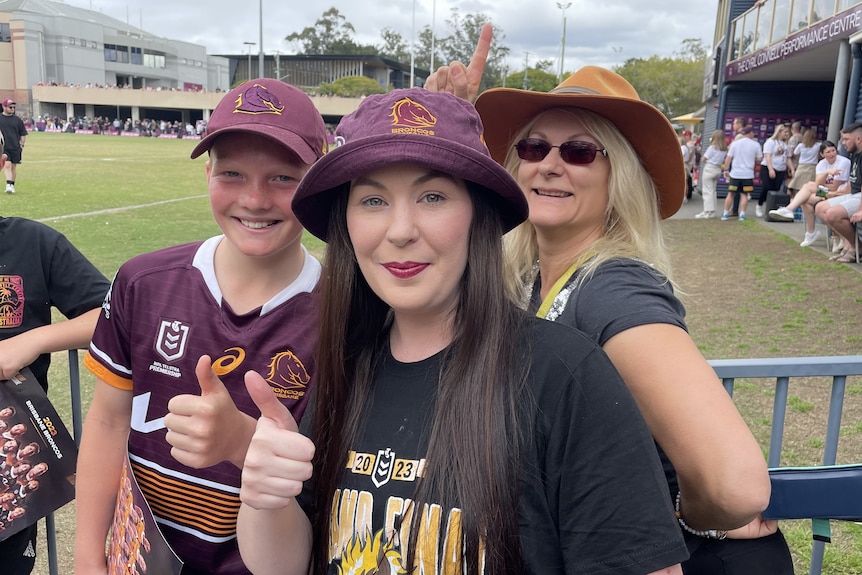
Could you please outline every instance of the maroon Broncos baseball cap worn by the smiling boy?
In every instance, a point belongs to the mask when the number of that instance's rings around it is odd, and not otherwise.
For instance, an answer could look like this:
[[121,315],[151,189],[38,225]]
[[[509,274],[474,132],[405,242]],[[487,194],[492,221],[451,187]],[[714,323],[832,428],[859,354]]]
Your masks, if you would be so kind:
[[207,122],[192,159],[231,132],[265,136],[291,150],[306,164],[326,152],[326,126],[305,92],[273,78],[240,84],[224,95]]

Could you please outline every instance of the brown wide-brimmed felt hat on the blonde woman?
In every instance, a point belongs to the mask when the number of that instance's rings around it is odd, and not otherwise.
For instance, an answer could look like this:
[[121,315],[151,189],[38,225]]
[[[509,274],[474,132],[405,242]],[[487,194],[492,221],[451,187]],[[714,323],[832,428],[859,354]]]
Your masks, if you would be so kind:
[[584,66],[550,92],[514,88],[482,92],[476,109],[491,156],[504,163],[515,134],[551,108],[580,108],[607,118],[631,143],[655,182],[661,217],[679,210],[685,197],[685,165],[673,126],[641,100],[625,78],[598,66]]

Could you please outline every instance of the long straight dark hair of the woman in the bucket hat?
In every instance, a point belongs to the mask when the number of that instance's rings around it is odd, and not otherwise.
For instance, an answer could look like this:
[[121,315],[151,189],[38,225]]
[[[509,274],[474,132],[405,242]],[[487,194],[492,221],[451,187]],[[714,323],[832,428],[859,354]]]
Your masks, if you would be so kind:
[[[466,573],[523,571],[518,528],[520,453],[518,406],[529,368],[526,315],[505,288],[502,222],[490,192],[468,182],[473,200],[467,268],[460,283],[452,343],[444,351],[427,467],[413,497],[409,552],[425,503],[461,509]],[[363,278],[347,233],[348,187],[330,215],[320,283],[320,340],[312,439],[315,488],[311,518],[315,573],[329,568],[331,509],[359,436],[376,362],[386,350],[391,313]],[[405,516],[408,514],[405,514]],[[396,531],[400,526],[396,525]],[[442,541],[440,544],[442,545]],[[439,549],[438,549],[439,552]]]

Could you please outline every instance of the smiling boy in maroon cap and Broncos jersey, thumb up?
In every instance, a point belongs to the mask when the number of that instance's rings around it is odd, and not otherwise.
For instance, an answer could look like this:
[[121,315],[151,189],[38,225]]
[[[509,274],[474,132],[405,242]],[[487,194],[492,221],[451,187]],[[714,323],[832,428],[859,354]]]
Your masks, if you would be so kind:
[[290,202],[325,138],[299,89],[272,79],[235,88],[192,151],[209,152],[210,204],[223,235],[120,268],[85,358],[98,381],[78,459],[76,573],[105,573],[127,449],[183,574],[248,572],[236,512],[259,412],[243,375],[266,374],[302,416],[320,264],[300,243]]

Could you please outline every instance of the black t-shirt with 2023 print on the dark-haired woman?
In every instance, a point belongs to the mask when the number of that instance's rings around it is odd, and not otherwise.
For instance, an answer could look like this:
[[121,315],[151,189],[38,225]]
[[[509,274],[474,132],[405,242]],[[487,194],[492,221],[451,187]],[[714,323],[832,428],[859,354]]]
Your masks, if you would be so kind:
[[[576,330],[530,321],[519,501],[525,572],[643,574],[683,561],[652,438],[610,360]],[[441,356],[405,364],[390,355],[375,373],[365,427],[332,506],[332,573],[406,557],[409,524],[400,535],[394,526],[424,470]],[[303,419],[305,433],[313,417]],[[308,495],[300,502],[310,511]],[[427,527],[417,561],[433,566],[426,572],[455,572],[441,565],[458,560],[460,510],[432,504],[415,514]]]

